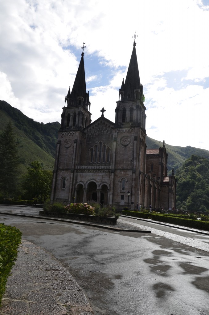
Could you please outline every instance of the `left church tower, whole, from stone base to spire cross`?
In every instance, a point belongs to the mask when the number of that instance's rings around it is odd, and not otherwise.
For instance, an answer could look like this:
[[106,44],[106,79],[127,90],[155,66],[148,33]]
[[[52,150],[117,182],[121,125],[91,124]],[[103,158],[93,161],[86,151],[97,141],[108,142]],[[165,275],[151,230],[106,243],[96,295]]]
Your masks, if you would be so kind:
[[84,45],[85,43],[81,47],[81,61],[73,89],[70,92],[69,87],[68,94],[65,96],[61,128],[58,132],[51,201],[68,203],[73,199],[74,170],[80,163],[82,145],[85,146],[84,129],[91,124],[91,102],[89,92],[86,90],[84,69]]

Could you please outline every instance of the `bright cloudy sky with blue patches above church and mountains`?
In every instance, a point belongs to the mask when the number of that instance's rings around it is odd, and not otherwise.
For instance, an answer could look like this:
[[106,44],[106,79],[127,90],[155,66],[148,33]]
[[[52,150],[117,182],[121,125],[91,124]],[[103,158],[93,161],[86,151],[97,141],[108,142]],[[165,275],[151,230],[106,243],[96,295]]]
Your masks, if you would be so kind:
[[85,43],[92,121],[115,121],[134,32],[146,133],[209,150],[209,0],[0,2],[0,100],[36,121],[61,122]]

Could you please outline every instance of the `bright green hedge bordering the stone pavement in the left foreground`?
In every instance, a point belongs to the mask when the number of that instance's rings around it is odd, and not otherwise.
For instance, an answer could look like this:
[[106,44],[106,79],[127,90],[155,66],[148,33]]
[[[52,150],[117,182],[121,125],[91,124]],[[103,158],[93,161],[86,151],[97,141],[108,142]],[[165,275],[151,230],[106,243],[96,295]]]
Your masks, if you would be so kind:
[[21,243],[21,232],[14,226],[0,223],[0,303],[5,291],[7,278],[17,257]]

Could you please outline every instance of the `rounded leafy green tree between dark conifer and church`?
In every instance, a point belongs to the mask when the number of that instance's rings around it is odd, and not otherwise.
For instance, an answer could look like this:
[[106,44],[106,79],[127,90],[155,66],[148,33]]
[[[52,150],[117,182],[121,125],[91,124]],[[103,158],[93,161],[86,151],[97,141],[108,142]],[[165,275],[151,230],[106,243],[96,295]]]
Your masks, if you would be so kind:
[[27,173],[22,176],[22,187],[26,191],[26,198],[45,201],[51,193],[52,172],[44,170],[39,161],[33,161],[27,167]]

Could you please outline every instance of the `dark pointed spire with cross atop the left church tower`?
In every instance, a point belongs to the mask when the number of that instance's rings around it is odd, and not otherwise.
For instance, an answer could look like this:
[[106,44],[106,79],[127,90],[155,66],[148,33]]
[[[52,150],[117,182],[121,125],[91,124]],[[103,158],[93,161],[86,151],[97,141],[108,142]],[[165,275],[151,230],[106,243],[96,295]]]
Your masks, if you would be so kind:
[[[85,43],[81,49],[84,50]],[[75,82],[73,84],[72,91],[70,93],[70,88],[67,94],[67,103],[68,107],[71,106],[88,106],[89,104],[89,95],[86,90],[86,78],[85,78],[85,69],[84,69],[84,52],[81,53],[81,61],[78,67],[78,71],[75,77]]]

